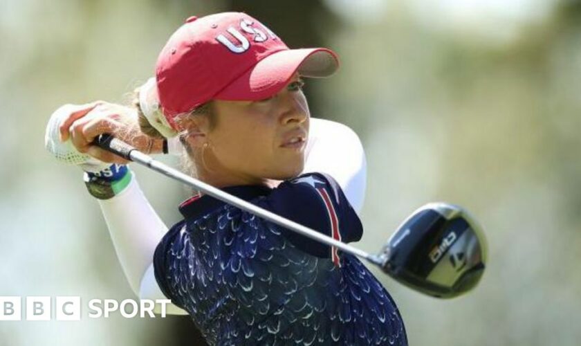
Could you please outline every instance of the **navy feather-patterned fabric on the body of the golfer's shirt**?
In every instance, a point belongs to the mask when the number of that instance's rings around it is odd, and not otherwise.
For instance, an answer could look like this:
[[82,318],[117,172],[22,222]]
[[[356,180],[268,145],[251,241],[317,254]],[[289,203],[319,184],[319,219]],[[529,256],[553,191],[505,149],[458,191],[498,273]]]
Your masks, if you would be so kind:
[[394,301],[360,260],[309,255],[238,208],[181,221],[156,257],[163,291],[210,345],[407,345]]

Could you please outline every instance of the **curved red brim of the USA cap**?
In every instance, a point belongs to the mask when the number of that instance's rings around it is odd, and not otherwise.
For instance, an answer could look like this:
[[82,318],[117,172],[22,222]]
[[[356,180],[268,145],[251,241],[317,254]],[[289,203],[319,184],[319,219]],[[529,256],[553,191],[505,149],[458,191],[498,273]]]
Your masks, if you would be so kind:
[[295,72],[304,77],[324,78],[339,67],[337,55],[326,48],[279,51],[255,66],[214,96],[216,100],[261,100],[280,91]]

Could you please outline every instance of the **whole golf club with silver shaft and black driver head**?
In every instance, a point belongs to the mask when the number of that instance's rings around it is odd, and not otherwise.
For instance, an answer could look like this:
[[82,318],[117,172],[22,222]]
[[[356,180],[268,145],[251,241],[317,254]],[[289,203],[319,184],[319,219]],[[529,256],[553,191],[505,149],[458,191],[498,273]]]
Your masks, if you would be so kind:
[[474,288],[483,275],[486,239],[476,221],[459,206],[429,203],[419,208],[379,253],[369,254],[183,174],[109,134],[98,136],[93,144],[288,230],[361,257],[427,295],[456,297]]

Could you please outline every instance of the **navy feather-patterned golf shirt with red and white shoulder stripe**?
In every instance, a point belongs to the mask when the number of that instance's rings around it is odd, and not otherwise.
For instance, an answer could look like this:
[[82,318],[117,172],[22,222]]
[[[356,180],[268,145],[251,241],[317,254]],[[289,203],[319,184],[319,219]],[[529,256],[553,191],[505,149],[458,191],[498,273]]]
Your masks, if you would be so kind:
[[[362,225],[328,175],[223,188],[342,242]],[[394,300],[357,257],[208,195],[156,248],[158,284],[210,345],[407,345]]]

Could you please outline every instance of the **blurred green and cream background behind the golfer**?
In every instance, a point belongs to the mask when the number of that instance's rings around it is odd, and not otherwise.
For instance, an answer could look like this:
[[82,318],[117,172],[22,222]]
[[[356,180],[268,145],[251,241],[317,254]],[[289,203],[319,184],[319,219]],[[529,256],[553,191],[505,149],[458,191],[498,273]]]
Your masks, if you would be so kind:
[[[44,150],[59,105],[124,94],[190,15],[243,10],[342,60],[315,117],[358,132],[377,251],[428,201],[488,236],[480,286],[435,300],[380,275],[411,345],[581,343],[581,4],[557,0],[0,2],[0,295],[134,298],[81,172]],[[172,158],[163,158],[176,164]],[[185,190],[134,167],[167,224]],[[177,336],[172,340],[171,335]],[[201,345],[187,318],[0,322],[0,345]]]

